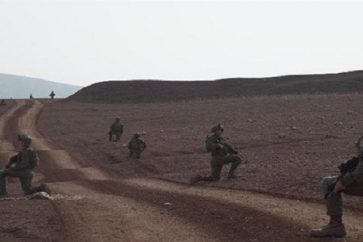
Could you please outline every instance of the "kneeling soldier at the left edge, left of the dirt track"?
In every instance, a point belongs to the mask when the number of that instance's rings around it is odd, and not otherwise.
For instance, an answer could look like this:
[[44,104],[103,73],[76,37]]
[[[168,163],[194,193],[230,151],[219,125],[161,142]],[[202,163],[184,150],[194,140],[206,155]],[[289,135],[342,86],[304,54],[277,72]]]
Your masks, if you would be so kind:
[[30,148],[32,138],[27,135],[18,135],[18,140],[22,144],[22,150],[10,158],[4,170],[0,171],[0,195],[6,195],[6,177],[19,177],[21,187],[26,195],[35,192],[46,192],[50,195],[50,190],[46,184],[32,187],[33,170],[39,158],[38,154]]

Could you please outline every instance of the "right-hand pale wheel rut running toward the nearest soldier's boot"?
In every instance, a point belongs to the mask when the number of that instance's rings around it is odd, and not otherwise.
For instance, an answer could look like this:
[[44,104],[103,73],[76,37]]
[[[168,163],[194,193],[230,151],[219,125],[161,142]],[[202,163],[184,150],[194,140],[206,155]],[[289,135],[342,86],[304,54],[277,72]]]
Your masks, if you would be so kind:
[[[271,216],[285,218],[291,223],[302,224],[302,228],[318,227],[327,222],[325,205],[314,202],[273,197],[271,195],[256,192],[238,192],[236,190],[215,187],[187,186],[185,184],[159,179],[135,178],[123,182],[133,187],[141,186],[157,191],[214,199],[240,207],[254,208],[258,211],[270,214]],[[356,210],[346,210],[344,220],[349,232],[347,239],[349,241],[362,241],[363,213]],[[314,239],[314,241],[317,241],[317,239]]]

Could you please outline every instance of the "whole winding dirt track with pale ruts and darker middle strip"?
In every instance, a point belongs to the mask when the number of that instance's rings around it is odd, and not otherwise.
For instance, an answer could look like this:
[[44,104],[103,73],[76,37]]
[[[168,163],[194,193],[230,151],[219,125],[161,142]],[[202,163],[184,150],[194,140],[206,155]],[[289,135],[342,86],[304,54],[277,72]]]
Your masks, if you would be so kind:
[[[55,193],[63,224],[59,240],[318,241],[307,233],[324,223],[320,204],[158,179],[115,179],[42,137],[36,128],[41,109],[40,102],[29,106],[19,130],[34,137],[39,177]],[[348,211],[345,217],[347,241],[361,241],[363,215]]]

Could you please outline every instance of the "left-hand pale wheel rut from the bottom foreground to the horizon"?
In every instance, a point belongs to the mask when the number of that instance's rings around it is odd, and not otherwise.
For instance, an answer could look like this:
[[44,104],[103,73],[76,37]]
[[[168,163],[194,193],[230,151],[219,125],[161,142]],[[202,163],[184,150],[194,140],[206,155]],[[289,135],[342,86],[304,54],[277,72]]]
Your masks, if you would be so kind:
[[40,153],[41,171],[46,179],[63,172],[59,178],[64,181],[54,180],[50,187],[67,198],[56,195],[54,201],[63,222],[65,241],[217,241],[213,234],[205,233],[181,218],[164,216],[159,208],[148,203],[105,195],[76,184],[77,180],[102,181],[109,177],[97,168],[81,166],[63,150],[52,149],[36,131],[35,120],[42,106],[36,101],[20,117],[19,131],[33,137],[33,146]]

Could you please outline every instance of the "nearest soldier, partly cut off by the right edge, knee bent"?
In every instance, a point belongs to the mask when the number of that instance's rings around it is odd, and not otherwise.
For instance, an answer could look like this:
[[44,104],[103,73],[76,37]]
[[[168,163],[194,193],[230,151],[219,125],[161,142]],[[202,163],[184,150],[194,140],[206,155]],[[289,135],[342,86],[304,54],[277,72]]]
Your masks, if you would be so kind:
[[360,145],[363,136],[358,140],[358,156],[341,164],[339,176],[325,177],[321,190],[326,200],[327,215],[330,216],[328,225],[313,229],[311,237],[344,237],[342,192],[347,195],[363,196],[363,149]]

